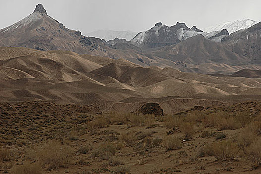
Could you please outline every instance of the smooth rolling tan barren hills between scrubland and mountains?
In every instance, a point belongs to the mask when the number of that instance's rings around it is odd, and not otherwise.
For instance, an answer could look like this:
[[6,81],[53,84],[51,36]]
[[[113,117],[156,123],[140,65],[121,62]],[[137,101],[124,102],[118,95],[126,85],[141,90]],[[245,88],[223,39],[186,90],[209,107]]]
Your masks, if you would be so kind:
[[261,99],[260,78],[144,68],[124,59],[28,48],[0,48],[0,81],[0,102],[93,104],[103,111],[135,111],[156,102],[173,113],[195,105]]

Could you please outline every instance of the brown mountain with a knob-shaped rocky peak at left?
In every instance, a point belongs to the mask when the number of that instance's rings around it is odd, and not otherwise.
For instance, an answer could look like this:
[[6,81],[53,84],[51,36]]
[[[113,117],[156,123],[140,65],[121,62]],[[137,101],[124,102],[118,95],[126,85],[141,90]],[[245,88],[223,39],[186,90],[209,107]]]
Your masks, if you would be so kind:
[[41,4],[38,4],[29,16],[0,30],[0,46],[70,50],[101,55],[106,55],[108,48],[100,39],[85,37],[80,31],[66,28],[47,15]]

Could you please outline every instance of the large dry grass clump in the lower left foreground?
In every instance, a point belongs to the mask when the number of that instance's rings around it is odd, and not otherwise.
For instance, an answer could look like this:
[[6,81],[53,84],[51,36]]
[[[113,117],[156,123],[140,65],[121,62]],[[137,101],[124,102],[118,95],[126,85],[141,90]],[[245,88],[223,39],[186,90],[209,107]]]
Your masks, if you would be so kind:
[[42,167],[48,170],[68,167],[71,162],[73,151],[66,145],[61,145],[57,141],[50,141],[42,147],[38,147],[34,152],[36,160]]

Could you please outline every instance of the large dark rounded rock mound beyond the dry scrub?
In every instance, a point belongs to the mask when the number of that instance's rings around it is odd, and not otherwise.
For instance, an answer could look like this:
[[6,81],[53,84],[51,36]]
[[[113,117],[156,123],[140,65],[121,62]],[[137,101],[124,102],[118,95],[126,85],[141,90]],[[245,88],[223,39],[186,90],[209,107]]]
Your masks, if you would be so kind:
[[163,116],[163,109],[159,106],[158,103],[146,103],[141,106],[138,112],[143,115],[154,114],[155,116]]

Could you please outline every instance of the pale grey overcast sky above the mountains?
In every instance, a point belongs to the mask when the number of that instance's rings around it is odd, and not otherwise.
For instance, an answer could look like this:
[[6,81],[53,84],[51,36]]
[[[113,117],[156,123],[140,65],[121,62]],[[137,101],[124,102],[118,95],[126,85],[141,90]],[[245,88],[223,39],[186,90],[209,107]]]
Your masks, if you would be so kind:
[[204,29],[242,18],[261,20],[261,0],[0,0],[0,29],[28,16],[38,3],[65,27],[82,33],[139,32],[157,22]]

